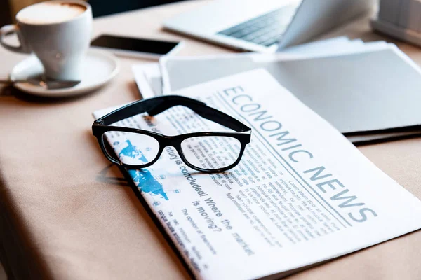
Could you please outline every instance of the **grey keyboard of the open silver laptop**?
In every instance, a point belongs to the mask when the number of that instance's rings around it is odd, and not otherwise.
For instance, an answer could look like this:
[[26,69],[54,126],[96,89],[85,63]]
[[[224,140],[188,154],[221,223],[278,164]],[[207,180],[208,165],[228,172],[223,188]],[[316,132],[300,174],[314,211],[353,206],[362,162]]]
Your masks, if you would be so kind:
[[218,34],[269,47],[278,43],[295,15],[298,6],[285,6],[239,25],[229,27]]

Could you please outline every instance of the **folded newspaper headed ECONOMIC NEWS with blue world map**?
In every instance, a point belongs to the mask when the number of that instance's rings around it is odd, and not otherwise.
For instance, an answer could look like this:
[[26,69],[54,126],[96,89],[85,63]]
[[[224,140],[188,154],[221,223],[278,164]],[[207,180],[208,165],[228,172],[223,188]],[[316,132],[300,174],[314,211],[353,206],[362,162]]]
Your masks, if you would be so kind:
[[[151,167],[127,170],[197,279],[278,279],[421,228],[420,200],[264,69],[176,93],[252,127],[228,172],[195,172],[173,147]],[[115,125],[167,135],[224,129],[180,106]],[[127,134],[109,144],[120,157],[144,156]]]

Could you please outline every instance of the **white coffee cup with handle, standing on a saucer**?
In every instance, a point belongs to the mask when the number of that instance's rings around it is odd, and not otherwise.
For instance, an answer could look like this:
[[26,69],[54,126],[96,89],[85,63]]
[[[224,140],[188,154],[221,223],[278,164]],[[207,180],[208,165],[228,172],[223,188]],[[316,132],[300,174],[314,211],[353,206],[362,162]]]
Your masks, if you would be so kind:
[[[92,10],[84,1],[46,1],[23,8],[17,25],[0,29],[0,44],[13,52],[34,53],[46,78],[81,80],[81,62],[91,42]],[[8,45],[15,33],[19,46]]]

